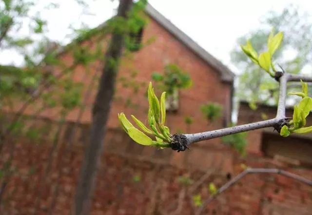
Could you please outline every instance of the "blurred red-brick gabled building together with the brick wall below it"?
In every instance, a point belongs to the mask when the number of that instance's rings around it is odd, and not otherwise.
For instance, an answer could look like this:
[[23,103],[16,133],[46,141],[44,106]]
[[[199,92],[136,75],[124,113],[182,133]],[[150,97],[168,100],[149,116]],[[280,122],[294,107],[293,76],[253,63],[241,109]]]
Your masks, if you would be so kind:
[[[233,73],[152,6],[148,5],[145,11],[149,23],[141,31],[141,41],[144,43],[150,38],[155,38],[155,41],[133,53],[133,66],[122,63],[118,79],[130,79],[136,70],[139,75],[134,79],[139,83],[147,83],[154,71],[162,72],[165,65],[175,63],[190,73],[194,84],[190,89],[179,92],[178,109],[168,113],[167,124],[172,132],[195,133],[229,124]],[[90,43],[92,47],[92,41],[84,42]],[[60,53],[60,58],[65,62],[73,60],[68,52]],[[91,66],[99,67],[100,62]],[[82,66],[78,66],[73,79],[88,85],[96,72],[97,69],[94,69],[86,73]],[[112,105],[104,156],[98,171],[93,215],[194,214],[197,208],[193,197],[200,194],[204,201],[209,197],[208,183],[214,181],[217,186],[221,186],[242,171],[241,163],[252,167],[288,168],[300,175],[312,177],[309,169],[297,169],[289,166],[289,162],[263,156],[266,154],[262,151],[262,138],[258,132],[250,133],[249,155],[244,159],[221,144],[220,138],[196,143],[191,150],[181,153],[135,144],[120,129],[117,113],[123,111],[127,116],[134,114],[144,121],[148,108],[145,91],[146,87],[141,87],[134,96],[131,88],[125,88],[122,82],[117,84],[117,97]],[[19,174],[7,185],[3,197],[3,214],[69,214],[83,149],[88,142],[86,134],[95,92],[96,89],[85,100],[79,123],[76,122],[79,110],[74,110],[67,117],[58,144],[48,141],[50,132],[58,127],[53,120],[58,117],[57,112],[46,111],[32,119],[38,126],[48,125],[49,133],[37,143],[22,138],[16,144],[13,165]],[[127,105],[128,98],[135,105]],[[217,102],[223,107],[223,117],[210,124],[207,124],[199,110],[200,105],[207,101]],[[252,113],[245,106],[241,107],[240,123],[256,119],[248,117]],[[26,113],[31,114],[32,110]],[[187,125],[185,117],[193,117],[194,123]],[[68,147],[68,139],[73,133],[75,141]],[[2,160],[8,156],[9,149],[5,149]],[[252,175],[220,195],[203,214],[309,215],[312,214],[311,203],[312,188],[306,185],[282,176]]]

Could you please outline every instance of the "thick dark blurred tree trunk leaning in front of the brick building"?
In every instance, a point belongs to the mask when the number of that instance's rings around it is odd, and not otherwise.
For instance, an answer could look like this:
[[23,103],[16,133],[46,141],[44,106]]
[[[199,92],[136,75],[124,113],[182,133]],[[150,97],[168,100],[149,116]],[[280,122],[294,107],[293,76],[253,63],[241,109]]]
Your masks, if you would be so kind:
[[[117,16],[127,19],[127,13],[131,6],[132,0],[120,0]],[[75,215],[90,214],[98,163],[103,153],[103,137],[106,132],[105,125],[109,117],[123,44],[124,34],[112,32],[110,46],[105,54],[105,64],[99,80],[98,94],[92,111],[90,143],[86,148],[85,157],[80,169],[74,205]]]

